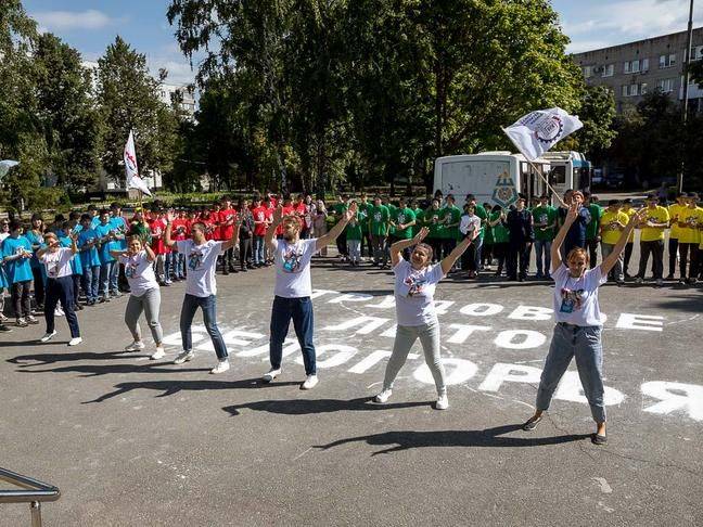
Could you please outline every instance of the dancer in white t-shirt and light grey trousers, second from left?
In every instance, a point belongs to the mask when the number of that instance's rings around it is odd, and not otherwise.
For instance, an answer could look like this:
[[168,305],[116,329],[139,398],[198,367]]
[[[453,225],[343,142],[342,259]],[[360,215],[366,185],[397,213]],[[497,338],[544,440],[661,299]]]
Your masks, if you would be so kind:
[[111,250],[110,254],[125,269],[125,278],[129,284],[129,300],[125,309],[125,323],[132,334],[132,343],[125,348],[125,351],[139,351],[144,349],[139,329],[139,317],[142,311],[145,313],[149,329],[151,330],[156,351],[152,354],[152,360],[163,359],[166,356],[164,350],[164,333],[158,321],[161,309],[161,288],[156,281],[153,262],[156,255],[149,245],[142,245],[141,237],[131,236],[128,240],[127,250]]

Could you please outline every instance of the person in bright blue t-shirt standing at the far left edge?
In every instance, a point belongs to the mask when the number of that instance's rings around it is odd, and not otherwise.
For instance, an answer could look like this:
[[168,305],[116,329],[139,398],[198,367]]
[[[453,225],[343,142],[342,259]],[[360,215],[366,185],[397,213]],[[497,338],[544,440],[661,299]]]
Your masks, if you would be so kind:
[[5,266],[12,305],[14,306],[17,327],[26,327],[27,324],[38,324],[39,321],[31,316],[31,266],[29,259],[33,250],[29,240],[23,234],[22,223],[14,220],[10,223],[10,236],[2,242],[2,261]]

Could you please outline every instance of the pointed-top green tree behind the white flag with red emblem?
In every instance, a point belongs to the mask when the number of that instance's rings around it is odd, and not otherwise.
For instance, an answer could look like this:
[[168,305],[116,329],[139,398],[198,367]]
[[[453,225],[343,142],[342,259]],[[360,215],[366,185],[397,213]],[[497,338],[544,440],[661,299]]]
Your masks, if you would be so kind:
[[107,173],[115,180],[123,177],[123,151],[129,130],[135,132],[141,172],[170,170],[178,127],[170,108],[158,99],[164,79],[154,79],[146,57],[119,36],[98,64],[98,101],[106,124],[103,166]]

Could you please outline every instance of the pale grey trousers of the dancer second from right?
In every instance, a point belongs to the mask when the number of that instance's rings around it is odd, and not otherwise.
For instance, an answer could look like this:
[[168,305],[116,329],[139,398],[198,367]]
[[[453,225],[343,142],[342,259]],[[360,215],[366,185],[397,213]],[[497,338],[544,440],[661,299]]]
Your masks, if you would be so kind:
[[412,348],[412,345],[418,338],[420,338],[420,344],[422,344],[425,362],[432,372],[435,386],[437,387],[437,394],[444,395],[447,393],[447,386],[445,385],[444,365],[439,357],[439,323],[436,321],[424,325],[398,325],[393,345],[393,354],[386,365],[383,388],[393,389],[393,383],[402,364],[405,364],[410,348]]

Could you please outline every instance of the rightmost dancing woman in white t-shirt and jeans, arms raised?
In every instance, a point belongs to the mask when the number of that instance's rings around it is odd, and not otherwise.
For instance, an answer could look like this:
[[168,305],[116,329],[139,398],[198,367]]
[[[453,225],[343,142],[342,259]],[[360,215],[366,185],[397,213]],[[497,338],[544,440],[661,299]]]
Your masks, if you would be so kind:
[[554,280],[553,310],[557,325],[545,360],[537,390],[535,414],[523,425],[524,430],[533,430],[549,409],[552,396],[561,377],[576,357],[576,369],[584,386],[597,429],[591,435],[595,445],[608,441],[605,433],[605,406],[603,402],[603,346],[601,332],[603,318],[598,303],[598,288],[608,281],[608,273],[617,262],[625,248],[630,232],[643,217],[635,214],[619,240],[600,266],[588,269],[588,253],[581,247],[572,248],[566,262],[561,259],[561,245],[568,229],[578,217],[580,205],[572,203],[564,224],[559,230],[551,246],[551,277]]

